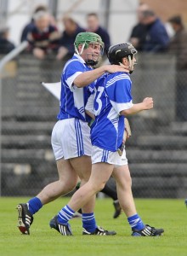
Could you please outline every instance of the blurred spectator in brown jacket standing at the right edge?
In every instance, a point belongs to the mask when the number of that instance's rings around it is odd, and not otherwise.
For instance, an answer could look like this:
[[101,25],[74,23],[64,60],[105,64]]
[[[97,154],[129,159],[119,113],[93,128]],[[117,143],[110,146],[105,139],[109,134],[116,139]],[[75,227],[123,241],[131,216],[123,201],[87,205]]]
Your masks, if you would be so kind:
[[176,55],[176,116],[178,121],[187,121],[187,30],[179,15],[168,21],[175,32],[169,52]]

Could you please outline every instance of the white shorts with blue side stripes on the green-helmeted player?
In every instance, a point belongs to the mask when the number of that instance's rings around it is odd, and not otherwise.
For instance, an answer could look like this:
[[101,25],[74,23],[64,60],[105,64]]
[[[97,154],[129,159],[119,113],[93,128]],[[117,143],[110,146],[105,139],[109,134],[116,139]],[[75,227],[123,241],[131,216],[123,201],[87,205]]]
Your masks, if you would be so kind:
[[59,120],[52,131],[51,144],[55,160],[91,155],[90,128],[80,119]]

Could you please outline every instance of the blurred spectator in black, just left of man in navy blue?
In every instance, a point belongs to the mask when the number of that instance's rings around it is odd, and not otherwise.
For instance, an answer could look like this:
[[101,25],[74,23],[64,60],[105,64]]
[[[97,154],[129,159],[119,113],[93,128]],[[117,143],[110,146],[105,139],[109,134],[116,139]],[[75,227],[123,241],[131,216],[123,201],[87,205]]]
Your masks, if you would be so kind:
[[141,51],[143,49],[143,45],[146,38],[147,26],[142,24],[143,12],[148,10],[149,6],[146,3],[140,3],[139,8],[137,9],[137,17],[139,23],[133,26],[129,42],[133,44],[133,46]]

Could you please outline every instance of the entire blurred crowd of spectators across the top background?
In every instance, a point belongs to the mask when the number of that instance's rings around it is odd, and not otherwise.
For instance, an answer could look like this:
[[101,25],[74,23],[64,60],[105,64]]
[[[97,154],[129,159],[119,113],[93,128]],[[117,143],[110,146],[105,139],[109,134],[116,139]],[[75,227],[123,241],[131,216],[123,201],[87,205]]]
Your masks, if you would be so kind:
[[[105,43],[105,52],[111,45],[109,32],[100,26],[99,16],[89,13],[86,17],[86,27],[80,26],[71,16],[65,15],[61,22],[64,30],[59,31],[57,21],[50,15],[45,6],[38,6],[35,9],[31,21],[27,24],[20,37],[20,42],[27,40],[29,46],[26,52],[33,54],[38,59],[44,59],[46,55],[53,53],[57,60],[65,60],[74,54],[74,41],[78,32],[95,32]],[[173,28],[171,37],[165,24],[156,15],[153,9],[145,3],[140,3],[137,9],[138,23],[133,26],[128,41],[145,53],[171,53],[177,56],[176,69],[184,72],[183,79],[178,75],[177,84],[177,115],[178,119],[187,120],[187,112],[181,113],[181,104],[187,108],[187,31],[184,28],[183,20],[180,15],[171,17],[167,22]],[[123,42],[123,40],[122,40]],[[119,43],[122,43],[119,42]],[[14,49],[14,44],[8,40],[8,27],[0,27],[0,54],[8,54]],[[181,96],[182,95],[182,96]]]

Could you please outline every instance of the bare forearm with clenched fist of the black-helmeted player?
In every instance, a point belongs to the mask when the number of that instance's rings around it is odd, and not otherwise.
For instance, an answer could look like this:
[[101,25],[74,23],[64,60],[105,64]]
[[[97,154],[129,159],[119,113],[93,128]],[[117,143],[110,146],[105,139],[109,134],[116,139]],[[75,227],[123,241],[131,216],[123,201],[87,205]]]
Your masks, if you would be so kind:
[[144,98],[144,101],[141,103],[133,104],[132,108],[124,109],[120,112],[122,115],[130,115],[139,113],[143,110],[148,110],[153,108],[153,99],[152,98]]

